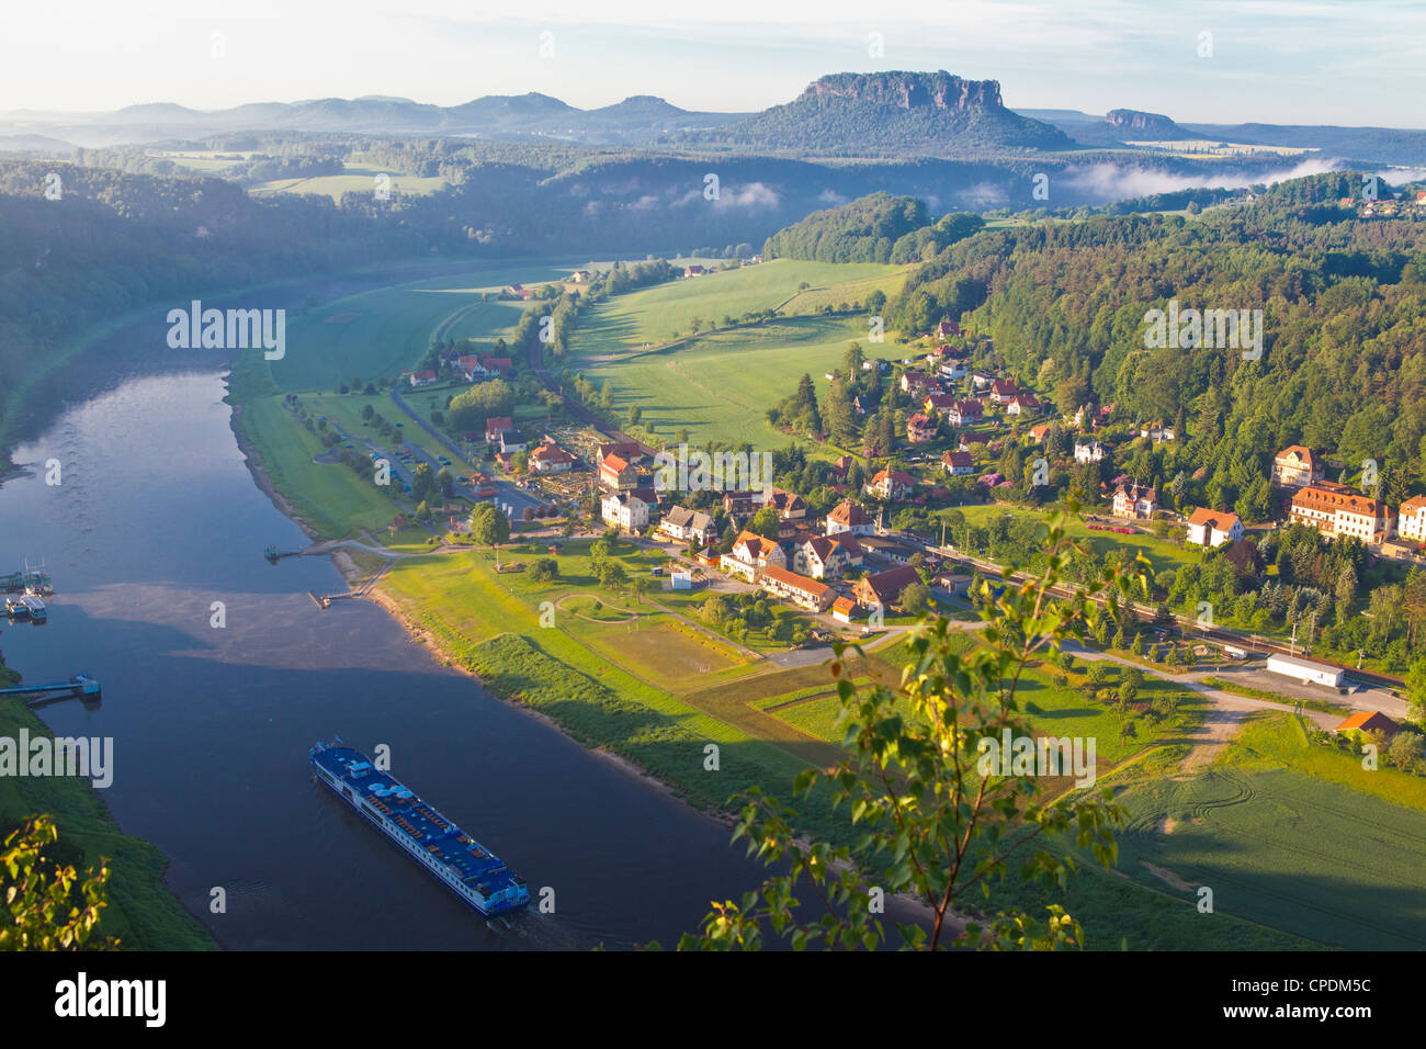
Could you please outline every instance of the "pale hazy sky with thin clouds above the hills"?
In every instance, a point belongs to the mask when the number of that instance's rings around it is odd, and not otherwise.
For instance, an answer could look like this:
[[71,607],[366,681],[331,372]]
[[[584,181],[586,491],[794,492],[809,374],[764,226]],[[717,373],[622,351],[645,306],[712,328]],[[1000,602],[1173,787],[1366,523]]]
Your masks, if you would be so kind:
[[78,0],[0,26],[0,110],[525,91],[757,110],[824,73],[945,69],[1012,107],[1426,127],[1426,0]]

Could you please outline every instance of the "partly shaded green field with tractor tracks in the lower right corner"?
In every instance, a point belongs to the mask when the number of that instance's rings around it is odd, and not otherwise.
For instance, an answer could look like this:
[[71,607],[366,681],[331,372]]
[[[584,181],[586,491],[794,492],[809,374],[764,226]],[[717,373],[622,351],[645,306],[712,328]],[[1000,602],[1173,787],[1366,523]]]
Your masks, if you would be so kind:
[[[1309,746],[1286,714],[1251,722],[1194,779],[1139,782],[1119,869],[1218,913],[1348,949],[1426,946],[1426,781]],[[1204,922],[1216,921],[1212,915]]]

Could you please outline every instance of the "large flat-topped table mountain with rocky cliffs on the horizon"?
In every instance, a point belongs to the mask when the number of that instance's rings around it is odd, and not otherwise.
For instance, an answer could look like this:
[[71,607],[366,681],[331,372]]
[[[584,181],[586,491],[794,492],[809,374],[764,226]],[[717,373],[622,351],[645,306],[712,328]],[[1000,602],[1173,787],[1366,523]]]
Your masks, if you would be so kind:
[[784,106],[689,138],[851,157],[1075,147],[1060,128],[1005,108],[998,81],[945,70],[826,76]]

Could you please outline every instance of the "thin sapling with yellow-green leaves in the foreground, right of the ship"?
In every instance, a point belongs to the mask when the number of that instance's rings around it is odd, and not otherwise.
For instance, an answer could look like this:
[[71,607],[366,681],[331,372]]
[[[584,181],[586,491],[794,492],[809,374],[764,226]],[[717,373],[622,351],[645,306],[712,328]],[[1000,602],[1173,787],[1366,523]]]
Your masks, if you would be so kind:
[[[873,858],[878,869],[864,873],[848,848],[809,841],[789,808],[749,788],[733,839],[746,841],[777,873],[742,902],[714,903],[680,949],[756,951],[764,926],[794,949],[874,949],[888,933],[867,903],[898,892],[931,911],[930,931],[900,928],[911,949],[1082,946],[1079,923],[1060,905],[1044,918],[992,911],[987,923],[973,922],[960,936],[947,926],[958,909],[985,909],[980,893],[988,879],[1015,875],[1062,885],[1072,868],[1051,848],[1055,842],[1087,849],[1105,866],[1117,856],[1112,828],[1124,824],[1125,812],[1108,791],[1045,802],[1032,771],[1007,769],[990,758],[1004,731],[1030,735],[1017,715],[1022,667],[1079,637],[1089,615],[1085,592],[1050,599],[1050,588],[1070,564],[1062,515],[1051,524],[1045,554],[1042,572],[1007,588],[987,608],[985,645],[963,654],[958,631],[937,618],[907,642],[908,671],[894,689],[880,684],[858,689],[843,672],[847,645],[833,647],[838,724],[851,755],[831,769],[800,772],[794,791],[806,796],[819,785],[830,788],[833,802],[848,808],[861,826],[858,856]],[[1092,597],[1101,588],[1095,582],[1085,591]],[[797,896],[807,883],[824,913],[804,919]]]

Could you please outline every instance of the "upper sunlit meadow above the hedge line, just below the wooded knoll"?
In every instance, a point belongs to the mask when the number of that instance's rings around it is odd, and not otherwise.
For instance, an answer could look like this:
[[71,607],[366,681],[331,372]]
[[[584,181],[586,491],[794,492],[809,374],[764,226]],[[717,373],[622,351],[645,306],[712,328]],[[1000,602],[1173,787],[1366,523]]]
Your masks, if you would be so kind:
[[[817,301],[811,298],[814,293],[826,293],[834,303],[856,301],[856,290],[860,294],[871,287],[886,290],[886,281],[904,278],[906,271],[897,265],[779,258],[727,273],[659,284],[619,295],[582,318],[570,343],[570,355],[602,357],[637,350],[645,344],[666,343],[674,333],[687,333],[694,318],[702,320],[704,327],[709,323],[722,324],[724,317],[771,310],[797,295],[807,303]],[[804,281],[811,287],[799,293],[797,285]],[[858,318],[857,324],[860,337],[866,338],[866,321]]]

